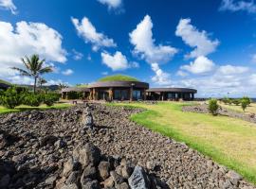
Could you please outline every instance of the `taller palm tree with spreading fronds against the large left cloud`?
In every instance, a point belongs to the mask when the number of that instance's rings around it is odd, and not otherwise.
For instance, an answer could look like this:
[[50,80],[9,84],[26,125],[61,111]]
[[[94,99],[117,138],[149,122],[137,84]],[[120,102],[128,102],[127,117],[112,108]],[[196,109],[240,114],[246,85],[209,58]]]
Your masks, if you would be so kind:
[[46,60],[39,60],[38,55],[32,55],[30,58],[21,59],[23,64],[26,67],[26,70],[12,67],[12,69],[20,72],[21,76],[33,77],[34,78],[34,93],[36,93],[36,82],[37,78],[43,74],[50,73],[53,71],[51,66],[44,67],[43,64]]

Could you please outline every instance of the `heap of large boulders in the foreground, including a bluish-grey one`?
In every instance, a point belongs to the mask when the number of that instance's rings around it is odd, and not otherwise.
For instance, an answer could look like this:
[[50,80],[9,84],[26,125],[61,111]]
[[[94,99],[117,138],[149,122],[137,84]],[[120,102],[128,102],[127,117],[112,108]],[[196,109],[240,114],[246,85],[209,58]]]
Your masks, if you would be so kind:
[[60,189],[146,189],[163,185],[141,166],[134,167],[119,157],[101,156],[100,149],[90,143],[75,148],[73,156],[64,163],[60,178],[56,181],[56,188]]

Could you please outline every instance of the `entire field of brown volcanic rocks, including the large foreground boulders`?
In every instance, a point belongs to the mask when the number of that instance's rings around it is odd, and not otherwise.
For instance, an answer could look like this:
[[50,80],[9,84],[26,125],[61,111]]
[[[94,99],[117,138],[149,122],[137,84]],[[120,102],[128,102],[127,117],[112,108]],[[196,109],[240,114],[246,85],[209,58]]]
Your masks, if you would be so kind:
[[0,188],[254,188],[185,144],[131,122],[137,112],[90,104],[0,115]]

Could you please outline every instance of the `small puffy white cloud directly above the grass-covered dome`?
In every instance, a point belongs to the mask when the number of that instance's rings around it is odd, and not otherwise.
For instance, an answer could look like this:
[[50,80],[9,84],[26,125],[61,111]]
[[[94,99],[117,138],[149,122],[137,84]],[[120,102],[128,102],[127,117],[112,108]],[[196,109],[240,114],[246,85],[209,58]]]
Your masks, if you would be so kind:
[[107,52],[101,53],[102,63],[106,64],[113,71],[125,70],[127,68],[137,67],[137,62],[129,63],[121,52],[117,51],[114,55]]

